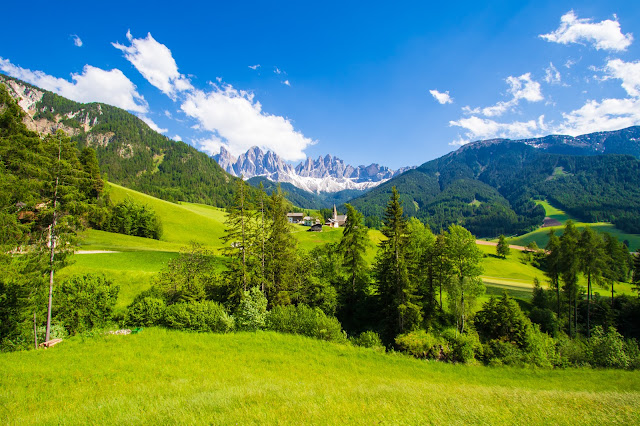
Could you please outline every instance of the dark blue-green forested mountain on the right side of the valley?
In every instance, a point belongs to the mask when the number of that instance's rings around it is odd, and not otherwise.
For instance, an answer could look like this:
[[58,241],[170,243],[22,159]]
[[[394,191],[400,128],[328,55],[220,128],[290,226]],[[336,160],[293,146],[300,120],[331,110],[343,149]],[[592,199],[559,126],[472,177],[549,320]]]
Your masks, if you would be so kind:
[[393,186],[407,214],[436,230],[459,223],[480,237],[526,232],[544,218],[532,200],[547,198],[584,221],[640,232],[640,161],[631,155],[551,154],[487,141],[427,162],[352,204],[381,216]]

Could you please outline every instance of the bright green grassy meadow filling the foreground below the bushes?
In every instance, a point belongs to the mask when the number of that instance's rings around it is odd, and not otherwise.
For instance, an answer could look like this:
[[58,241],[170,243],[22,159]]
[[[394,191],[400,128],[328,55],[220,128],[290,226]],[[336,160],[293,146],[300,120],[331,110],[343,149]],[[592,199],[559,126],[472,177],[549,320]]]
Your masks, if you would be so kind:
[[640,422],[637,371],[450,365],[267,332],[76,337],[0,354],[0,370],[2,423]]

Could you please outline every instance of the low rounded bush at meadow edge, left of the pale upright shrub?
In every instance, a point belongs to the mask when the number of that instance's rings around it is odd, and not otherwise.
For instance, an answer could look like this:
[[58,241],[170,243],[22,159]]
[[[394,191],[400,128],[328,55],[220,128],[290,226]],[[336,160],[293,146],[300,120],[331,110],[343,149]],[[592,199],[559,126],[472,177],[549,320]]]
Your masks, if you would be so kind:
[[234,328],[233,317],[226,313],[222,305],[209,300],[167,306],[164,323],[177,330],[215,333],[228,333]]

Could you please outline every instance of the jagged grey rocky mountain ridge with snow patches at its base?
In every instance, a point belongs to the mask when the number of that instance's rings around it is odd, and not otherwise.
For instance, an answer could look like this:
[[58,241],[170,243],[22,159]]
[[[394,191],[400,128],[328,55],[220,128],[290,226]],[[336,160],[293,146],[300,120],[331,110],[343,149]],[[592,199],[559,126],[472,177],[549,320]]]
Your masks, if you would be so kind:
[[367,190],[386,182],[409,169],[391,170],[379,164],[354,167],[338,157],[326,155],[316,160],[307,159],[296,167],[283,161],[272,151],[263,152],[251,147],[235,158],[224,147],[213,159],[234,176],[251,179],[264,176],[274,182],[288,182],[309,192],[338,192],[346,189]]

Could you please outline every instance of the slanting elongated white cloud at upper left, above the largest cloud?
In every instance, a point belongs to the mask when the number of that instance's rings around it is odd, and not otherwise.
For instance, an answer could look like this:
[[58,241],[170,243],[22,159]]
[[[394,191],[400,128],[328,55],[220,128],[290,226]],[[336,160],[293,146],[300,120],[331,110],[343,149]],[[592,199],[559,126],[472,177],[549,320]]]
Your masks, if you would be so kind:
[[171,50],[162,43],[158,43],[151,33],[146,38],[133,38],[131,32],[127,32],[127,39],[131,46],[120,43],[111,43],[113,47],[121,50],[124,57],[149,81],[172,99],[178,92],[193,89],[187,77],[178,72],[178,65],[173,59]]

